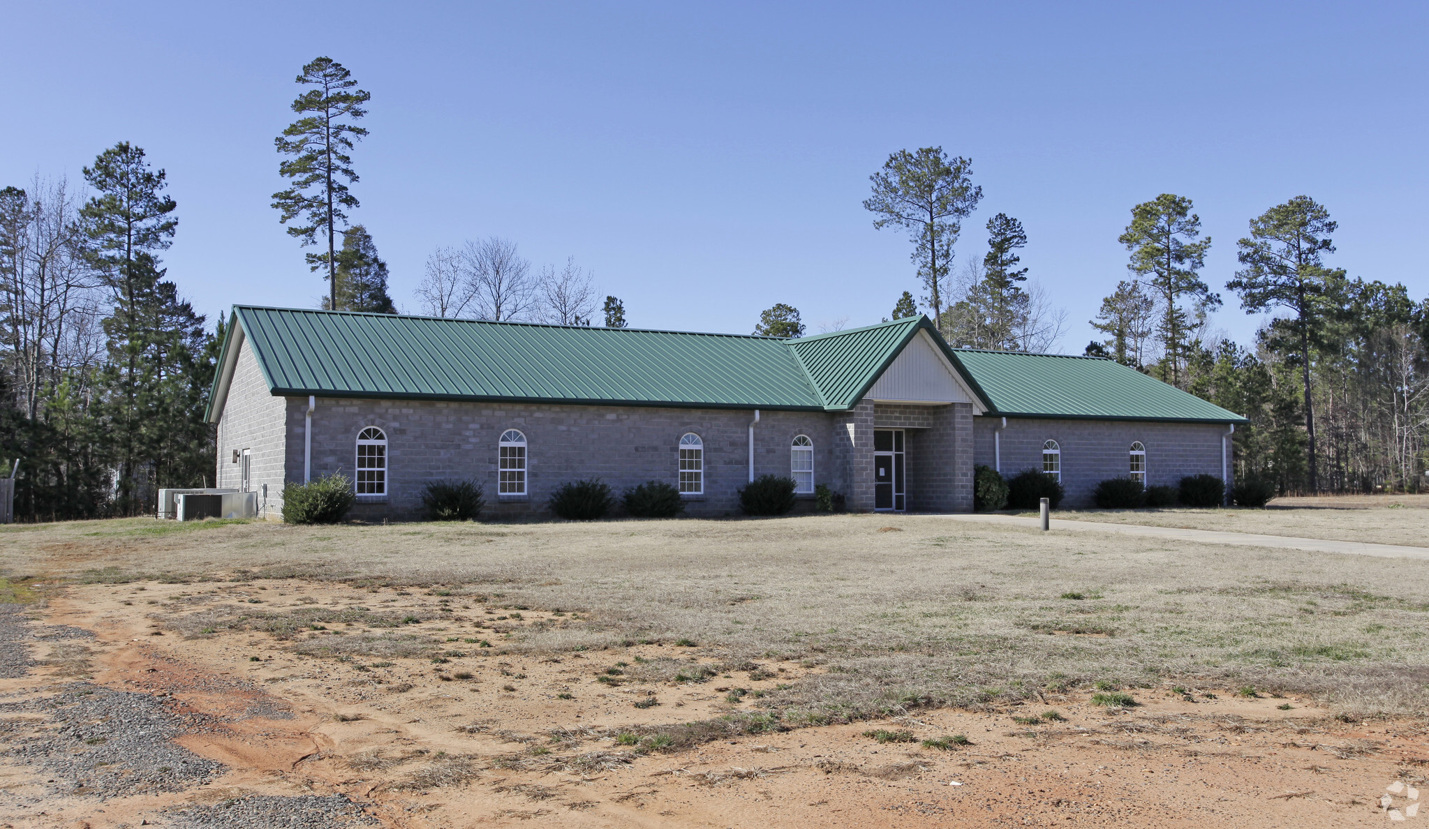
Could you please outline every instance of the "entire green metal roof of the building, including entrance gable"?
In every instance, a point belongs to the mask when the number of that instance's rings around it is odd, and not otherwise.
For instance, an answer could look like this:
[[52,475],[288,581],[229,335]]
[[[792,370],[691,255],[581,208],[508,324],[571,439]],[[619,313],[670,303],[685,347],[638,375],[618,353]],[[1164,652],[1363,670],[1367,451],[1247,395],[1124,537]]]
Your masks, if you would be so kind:
[[926,330],[989,414],[1239,422],[1109,360],[949,349],[926,317],[815,337],[700,334],[234,306],[280,396],[843,410]]

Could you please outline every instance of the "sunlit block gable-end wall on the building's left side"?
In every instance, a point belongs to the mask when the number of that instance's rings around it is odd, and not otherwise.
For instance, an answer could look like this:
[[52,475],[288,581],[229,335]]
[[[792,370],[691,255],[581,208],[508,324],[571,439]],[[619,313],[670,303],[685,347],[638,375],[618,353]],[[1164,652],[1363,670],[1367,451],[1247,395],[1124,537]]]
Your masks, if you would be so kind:
[[[283,397],[269,394],[267,382],[259,367],[253,349],[244,340],[219,417],[219,465],[214,486],[239,489],[242,467],[233,463],[233,452],[249,450],[249,480],[253,492],[260,495],[259,509],[264,517],[277,519],[283,512],[283,482],[286,472],[286,430]],[[302,460],[302,457],[300,457]],[[267,485],[267,502],[262,493]]]

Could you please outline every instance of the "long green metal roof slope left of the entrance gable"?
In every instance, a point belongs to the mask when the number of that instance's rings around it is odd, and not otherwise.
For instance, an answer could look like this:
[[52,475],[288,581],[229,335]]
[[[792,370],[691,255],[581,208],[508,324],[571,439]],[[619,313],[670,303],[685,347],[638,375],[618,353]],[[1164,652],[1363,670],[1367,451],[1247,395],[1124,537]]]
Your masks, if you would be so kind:
[[234,307],[273,394],[823,409],[786,340]]

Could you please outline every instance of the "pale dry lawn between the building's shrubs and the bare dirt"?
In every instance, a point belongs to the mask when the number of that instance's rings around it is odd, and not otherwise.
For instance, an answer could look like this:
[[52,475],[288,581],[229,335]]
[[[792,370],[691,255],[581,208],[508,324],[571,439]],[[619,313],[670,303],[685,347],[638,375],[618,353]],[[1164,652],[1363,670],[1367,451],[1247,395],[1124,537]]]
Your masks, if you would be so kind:
[[[1353,533],[1375,519],[1335,522],[1370,512],[1388,510],[1228,515],[1285,516],[1286,527],[1313,519],[1329,522],[1318,532]],[[807,722],[977,708],[1095,683],[1255,686],[1358,715],[1429,708],[1429,562],[1418,560],[849,515],[332,527],[74,522],[4,527],[0,566],[14,582],[342,579],[577,612],[579,625],[526,629],[510,647],[683,639],[726,659],[797,659],[816,672],[772,702]]]

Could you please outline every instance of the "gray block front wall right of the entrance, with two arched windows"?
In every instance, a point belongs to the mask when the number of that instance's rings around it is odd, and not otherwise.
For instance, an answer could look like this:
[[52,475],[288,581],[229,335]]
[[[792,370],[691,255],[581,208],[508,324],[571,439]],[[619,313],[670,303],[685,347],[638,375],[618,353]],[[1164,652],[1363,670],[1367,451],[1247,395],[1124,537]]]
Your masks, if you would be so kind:
[[[975,417],[973,457],[995,466],[993,432],[999,417]],[[1090,507],[1096,485],[1130,472],[1133,442],[1146,446],[1146,483],[1176,486],[1187,475],[1222,475],[1226,426],[1215,423],[1156,423],[1145,420],[1053,420],[1009,417],[1002,432],[1002,473],[1042,469],[1042,446],[1062,449],[1062,486],[1067,507]],[[1229,473],[1228,473],[1229,475]],[[1228,486],[1232,482],[1228,482]]]

